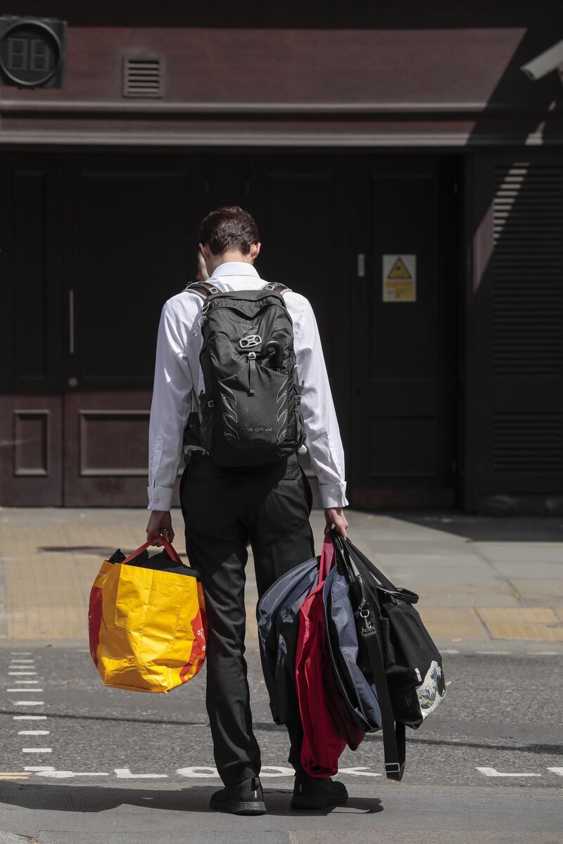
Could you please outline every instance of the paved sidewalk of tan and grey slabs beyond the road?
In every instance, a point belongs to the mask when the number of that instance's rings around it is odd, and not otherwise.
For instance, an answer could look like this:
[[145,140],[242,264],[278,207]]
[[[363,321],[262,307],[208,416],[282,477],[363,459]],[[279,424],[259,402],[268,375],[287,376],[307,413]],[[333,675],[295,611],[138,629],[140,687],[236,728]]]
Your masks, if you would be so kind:
[[[420,614],[442,647],[517,640],[563,650],[563,520],[347,516],[352,541],[398,586],[420,594]],[[147,519],[143,509],[0,508],[0,641],[84,640],[101,560],[117,547],[142,544]],[[323,521],[322,511],[313,511],[317,552]],[[180,511],[173,524],[181,552]],[[252,565],[247,574],[252,638]]]

